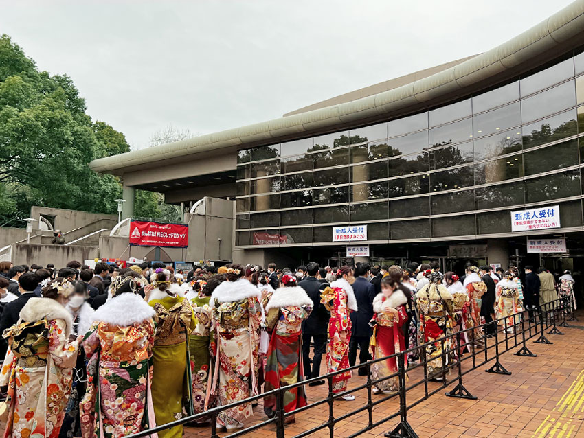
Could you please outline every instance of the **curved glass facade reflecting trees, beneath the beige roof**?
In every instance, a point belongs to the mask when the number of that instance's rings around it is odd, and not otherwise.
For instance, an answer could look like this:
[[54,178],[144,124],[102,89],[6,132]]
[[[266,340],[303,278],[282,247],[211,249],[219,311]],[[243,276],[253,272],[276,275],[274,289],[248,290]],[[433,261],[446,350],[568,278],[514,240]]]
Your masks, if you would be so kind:
[[240,150],[236,244],[325,244],[346,224],[368,224],[370,242],[480,237],[543,203],[582,227],[583,56],[431,111]]

